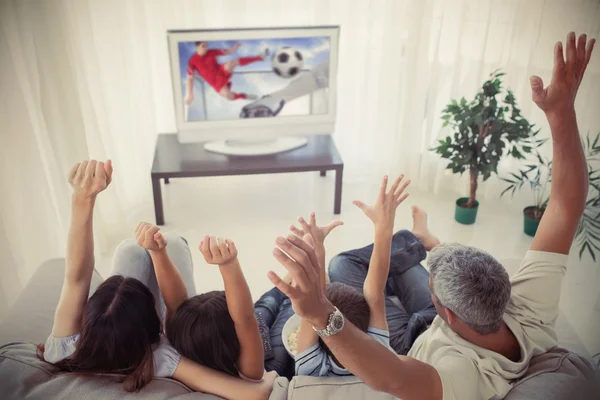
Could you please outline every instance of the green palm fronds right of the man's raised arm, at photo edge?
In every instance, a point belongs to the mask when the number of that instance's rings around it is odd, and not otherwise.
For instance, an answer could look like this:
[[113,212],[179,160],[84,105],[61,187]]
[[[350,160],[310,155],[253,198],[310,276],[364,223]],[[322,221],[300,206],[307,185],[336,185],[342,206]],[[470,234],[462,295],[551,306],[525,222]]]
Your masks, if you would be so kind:
[[585,211],[577,229],[576,242],[579,246],[579,258],[587,250],[596,262],[596,252],[600,252],[600,132],[593,140],[588,135],[583,145],[590,187]]

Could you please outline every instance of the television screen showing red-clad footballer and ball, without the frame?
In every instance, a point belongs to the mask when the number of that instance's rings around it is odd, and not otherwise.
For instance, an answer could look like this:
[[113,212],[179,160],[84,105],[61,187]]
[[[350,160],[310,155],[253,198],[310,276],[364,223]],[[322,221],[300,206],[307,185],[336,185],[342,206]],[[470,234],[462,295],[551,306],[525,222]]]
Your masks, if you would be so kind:
[[327,113],[328,37],[178,46],[186,121]]

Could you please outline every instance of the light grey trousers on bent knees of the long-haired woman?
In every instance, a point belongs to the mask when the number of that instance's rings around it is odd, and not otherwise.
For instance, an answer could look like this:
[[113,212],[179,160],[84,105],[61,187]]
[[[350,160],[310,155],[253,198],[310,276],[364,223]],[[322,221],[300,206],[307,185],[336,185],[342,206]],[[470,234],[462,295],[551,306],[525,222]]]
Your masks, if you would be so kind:
[[[165,233],[164,237],[167,240],[167,254],[177,270],[179,270],[179,274],[187,288],[188,297],[195,296],[196,285],[194,284],[192,254],[190,253],[187,241],[172,232]],[[121,242],[117,250],[115,250],[111,275],[135,278],[146,285],[154,296],[156,312],[160,316],[164,326],[167,307],[158,288],[154,265],[152,264],[152,258],[150,258],[148,250],[137,244],[135,240],[124,240]]]

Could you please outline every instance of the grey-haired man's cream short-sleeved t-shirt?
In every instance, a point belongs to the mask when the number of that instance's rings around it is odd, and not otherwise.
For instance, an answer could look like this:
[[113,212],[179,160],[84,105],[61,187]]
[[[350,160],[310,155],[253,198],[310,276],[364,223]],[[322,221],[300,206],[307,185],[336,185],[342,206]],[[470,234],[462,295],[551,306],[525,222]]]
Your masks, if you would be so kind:
[[419,336],[408,356],[435,367],[444,400],[502,399],[527,372],[532,357],[558,344],[554,323],[567,259],[564,254],[528,251],[511,279],[504,322],[521,347],[518,362],[467,342],[439,316]]

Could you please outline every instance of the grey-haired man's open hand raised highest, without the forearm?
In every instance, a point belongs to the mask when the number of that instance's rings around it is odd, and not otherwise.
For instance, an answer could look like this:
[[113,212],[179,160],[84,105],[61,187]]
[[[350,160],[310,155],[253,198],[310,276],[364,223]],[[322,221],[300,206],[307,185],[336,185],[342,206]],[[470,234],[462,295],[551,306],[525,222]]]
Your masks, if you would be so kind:
[[587,42],[585,34],[575,43],[575,32],[567,36],[566,61],[561,42],[554,46],[554,70],[550,85],[544,88],[539,76],[532,76],[531,90],[535,104],[550,118],[565,112],[574,112],[575,97],[585,69],[590,62],[594,39]]

